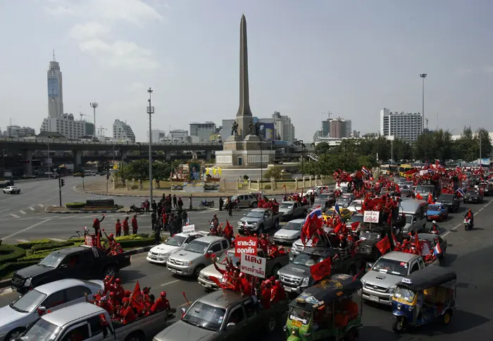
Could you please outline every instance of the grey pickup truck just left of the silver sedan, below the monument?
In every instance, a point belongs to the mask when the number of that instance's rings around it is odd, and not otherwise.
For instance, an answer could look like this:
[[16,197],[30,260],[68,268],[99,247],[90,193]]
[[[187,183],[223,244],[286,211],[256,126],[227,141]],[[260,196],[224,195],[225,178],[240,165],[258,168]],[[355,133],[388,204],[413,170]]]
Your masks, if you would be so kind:
[[245,235],[246,232],[250,235],[260,235],[266,230],[273,228],[277,230],[282,213],[274,214],[271,209],[252,209],[249,213],[238,221],[238,232],[240,235]]

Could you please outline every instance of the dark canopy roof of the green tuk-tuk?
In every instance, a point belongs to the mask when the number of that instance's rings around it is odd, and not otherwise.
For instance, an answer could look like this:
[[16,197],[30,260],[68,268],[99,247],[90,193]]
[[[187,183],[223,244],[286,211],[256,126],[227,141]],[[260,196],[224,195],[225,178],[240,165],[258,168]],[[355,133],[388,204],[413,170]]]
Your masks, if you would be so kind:
[[363,287],[361,280],[345,273],[330,275],[315,285],[308,287],[289,306],[294,306],[305,311],[315,309],[329,304],[341,297],[353,294]]

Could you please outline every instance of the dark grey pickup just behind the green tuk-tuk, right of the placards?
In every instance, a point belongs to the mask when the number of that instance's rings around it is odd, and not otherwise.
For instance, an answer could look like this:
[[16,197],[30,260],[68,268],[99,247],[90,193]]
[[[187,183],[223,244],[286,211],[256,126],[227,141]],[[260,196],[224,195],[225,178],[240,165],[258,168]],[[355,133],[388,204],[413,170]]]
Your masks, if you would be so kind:
[[311,277],[310,267],[328,257],[333,259],[332,273],[356,275],[363,265],[361,256],[347,256],[346,252],[342,253],[339,249],[325,247],[304,249],[292,263],[277,272],[285,291],[301,294],[307,287],[311,287],[316,281]]

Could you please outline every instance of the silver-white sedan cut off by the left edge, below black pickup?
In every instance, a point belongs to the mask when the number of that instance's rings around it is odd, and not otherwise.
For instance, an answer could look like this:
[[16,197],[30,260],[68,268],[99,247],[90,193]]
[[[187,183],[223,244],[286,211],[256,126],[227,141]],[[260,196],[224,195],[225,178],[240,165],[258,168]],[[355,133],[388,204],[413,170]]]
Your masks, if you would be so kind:
[[46,310],[54,311],[85,302],[85,294],[92,299],[99,290],[104,290],[102,280],[75,279],[56,280],[30,290],[0,308],[0,340],[20,337]]

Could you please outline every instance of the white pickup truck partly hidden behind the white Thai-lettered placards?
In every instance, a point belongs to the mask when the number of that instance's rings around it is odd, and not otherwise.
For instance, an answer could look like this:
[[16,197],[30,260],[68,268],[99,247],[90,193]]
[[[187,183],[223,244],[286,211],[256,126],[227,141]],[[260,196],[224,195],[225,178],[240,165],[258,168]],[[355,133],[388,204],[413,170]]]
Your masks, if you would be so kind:
[[[257,256],[262,258],[267,258],[266,277],[277,275],[277,271],[279,271],[280,268],[282,268],[283,266],[289,263],[288,254],[282,254],[272,258],[272,257],[266,257],[266,254],[263,253],[262,249],[257,249]],[[239,263],[239,257],[235,256],[235,250],[231,249],[230,251],[223,254],[223,256],[221,256],[220,259],[218,259],[218,261],[216,262],[216,265],[221,270],[225,270],[226,268],[226,259],[232,261],[234,265],[237,265]],[[206,289],[219,289],[216,283],[214,283],[212,280],[209,279],[211,276],[216,277],[218,279],[222,277],[222,275],[214,267],[214,264],[211,264],[210,266],[204,268],[204,270],[200,272],[199,284],[205,287]]]

